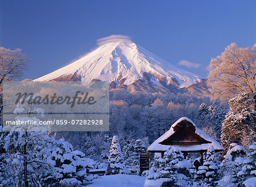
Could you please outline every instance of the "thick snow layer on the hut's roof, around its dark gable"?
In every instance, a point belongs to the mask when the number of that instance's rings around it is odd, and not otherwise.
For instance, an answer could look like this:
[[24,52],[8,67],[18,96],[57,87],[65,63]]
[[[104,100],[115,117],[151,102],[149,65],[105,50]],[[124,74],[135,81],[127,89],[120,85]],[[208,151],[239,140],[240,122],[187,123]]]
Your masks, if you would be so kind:
[[[167,146],[167,145],[163,145],[160,144],[160,142],[163,142],[163,140],[166,140],[167,138],[169,138],[171,135],[173,135],[175,133],[174,131],[174,127],[179,124],[180,122],[182,122],[183,120],[187,120],[188,122],[191,122],[193,124],[193,126],[195,126],[196,131],[195,133],[197,135],[199,135],[201,138],[207,140],[210,143],[203,143],[200,145],[194,145],[194,146],[189,146],[189,147],[183,147],[183,146]],[[210,136],[208,136],[207,134],[205,134],[205,132],[201,131],[199,128],[196,127],[195,123],[192,122],[191,119],[183,117],[180,118],[179,120],[177,120],[174,124],[172,124],[170,130],[168,130],[166,133],[164,133],[162,136],[160,136],[160,138],[158,138],[157,140],[155,140],[155,142],[153,142],[148,148],[147,151],[151,151],[151,152],[163,152],[163,151],[167,151],[168,148],[170,147],[177,147],[180,149],[180,151],[207,151],[207,149],[209,148],[209,146],[213,146],[215,151],[222,151],[224,148],[220,145],[220,143],[218,143],[216,140],[214,140],[213,138],[211,138]]]

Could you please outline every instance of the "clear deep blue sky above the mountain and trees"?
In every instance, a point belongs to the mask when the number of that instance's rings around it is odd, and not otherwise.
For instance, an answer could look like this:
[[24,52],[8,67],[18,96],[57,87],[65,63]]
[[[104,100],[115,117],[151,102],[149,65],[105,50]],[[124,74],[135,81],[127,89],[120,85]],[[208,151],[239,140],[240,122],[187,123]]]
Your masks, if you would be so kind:
[[0,46],[21,48],[31,59],[22,79],[61,68],[113,34],[204,78],[227,45],[251,47],[256,39],[256,1],[0,3]]

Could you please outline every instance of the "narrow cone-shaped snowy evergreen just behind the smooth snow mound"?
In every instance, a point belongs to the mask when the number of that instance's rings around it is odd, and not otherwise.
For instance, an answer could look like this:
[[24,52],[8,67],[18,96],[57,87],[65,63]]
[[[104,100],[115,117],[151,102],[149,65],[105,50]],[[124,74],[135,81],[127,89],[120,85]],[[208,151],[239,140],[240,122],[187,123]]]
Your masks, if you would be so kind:
[[126,174],[129,171],[126,168],[125,161],[123,160],[122,150],[119,145],[117,136],[113,136],[110,151],[109,151],[109,164],[106,174]]

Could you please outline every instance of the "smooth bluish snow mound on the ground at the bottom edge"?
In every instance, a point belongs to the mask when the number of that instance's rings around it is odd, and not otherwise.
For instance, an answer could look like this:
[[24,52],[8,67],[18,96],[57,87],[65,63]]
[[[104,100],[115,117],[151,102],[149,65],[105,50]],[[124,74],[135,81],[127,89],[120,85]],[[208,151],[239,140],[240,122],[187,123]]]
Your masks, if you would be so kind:
[[[101,176],[92,181],[88,187],[143,187],[145,177],[133,174],[114,174]],[[86,187],[87,187],[86,186]]]

